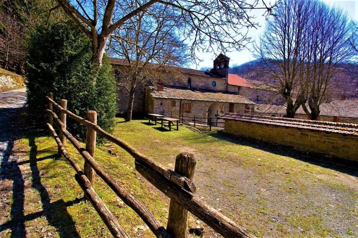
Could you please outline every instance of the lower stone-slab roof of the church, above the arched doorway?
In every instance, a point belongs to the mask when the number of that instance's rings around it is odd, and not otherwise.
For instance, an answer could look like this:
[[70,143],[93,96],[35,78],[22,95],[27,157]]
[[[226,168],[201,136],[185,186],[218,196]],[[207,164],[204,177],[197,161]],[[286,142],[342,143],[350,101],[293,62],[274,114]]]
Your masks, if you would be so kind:
[[209,101],[209,102],[229,102],[229,103],[245,103],[255,104],[250,99],[237,94],[226,92],[208,91],[202,89],[187,89],[181,87],[164,87],[163,91],[156,91],[154,87],[150,87],[151,96],[154,98],[171,98],[171,99],[186,99],[195,101]]

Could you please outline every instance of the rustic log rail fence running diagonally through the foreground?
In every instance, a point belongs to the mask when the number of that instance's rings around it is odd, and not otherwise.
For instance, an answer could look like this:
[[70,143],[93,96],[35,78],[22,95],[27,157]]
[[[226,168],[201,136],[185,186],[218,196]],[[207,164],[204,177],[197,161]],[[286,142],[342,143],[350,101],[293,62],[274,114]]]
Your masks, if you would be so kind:
[[[195,195],[193,177],[195,173],[196,160],[192,154],[181,153],[176,156],[175,170],[170,170],[155,160],[141,154],[126,142],[112,136],[97,125],[97,114],[95,111],[88,111],[87,120],[67,110],[67,100],[62,99],[60,105],[53,101],[53,94],[47,97],[49,133],[58,145],[58,154],[63,155],[76,171],[75,179],[81,186],[84,196],[91,202],[97,213],[110,230],[113,237],[129,237],[125,230],[118,223],[111,211],[98,197],[93,189],[93,176],[95,173],[132,208],[139,217],[147,224],[156,237],[161,238],[185,238],[188,237],[187,218],[188,211],[198,217],[204,223],[213,228],[223,237],[255,237],[244,230],[232,220],[219,213],[214,208],[205,204]],[[53,111],[53,107],[59,112],[59,116]],[[87,126],[86,148],[84,148],[66,129],[66,116]],[[53,128],[53,124],[59,129],[59,136]],[[122,185],[112,178],[103,167],[96,162],[96,134],[99,134],[114,144],[126,150],[134,157],[136,170],[144,176],[151,184],[170,198],[168,224],[166,229],[155,219],[153,214],[139,200],[127,192]],[[76,164],[66,152],[66,138],[77,149],[84,159],[84,169]]]

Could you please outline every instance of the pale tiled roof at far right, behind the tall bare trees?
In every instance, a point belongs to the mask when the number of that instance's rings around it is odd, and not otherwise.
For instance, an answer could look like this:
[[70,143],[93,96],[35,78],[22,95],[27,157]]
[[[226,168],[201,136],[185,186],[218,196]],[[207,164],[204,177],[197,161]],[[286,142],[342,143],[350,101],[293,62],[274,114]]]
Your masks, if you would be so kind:
[[[308,110],[309,107],[306,105]],[[337,99],[321,103],[319,106],[321,116],[338,116],[358,118],[358,98]],[[297,114],[306,114],[302,107],[296,111]]]

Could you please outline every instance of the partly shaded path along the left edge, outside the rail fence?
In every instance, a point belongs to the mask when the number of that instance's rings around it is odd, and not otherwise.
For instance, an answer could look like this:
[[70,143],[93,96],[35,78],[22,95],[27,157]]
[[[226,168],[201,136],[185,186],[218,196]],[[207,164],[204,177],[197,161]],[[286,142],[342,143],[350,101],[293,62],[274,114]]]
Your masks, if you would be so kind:
[[[12,154],[14,141],[23,131],[19,118],[25,99],[24,88],[0,93],[0,209],[10,210],[10,217],[16,218],[5,224],[9,214],[3,213],[0,232],[10,228],[11,237],[25,237],[26,234],[23,219],[25,181],[17,164],[19,156]],[[3,235],[6,236],[1,233],[0,237]]]

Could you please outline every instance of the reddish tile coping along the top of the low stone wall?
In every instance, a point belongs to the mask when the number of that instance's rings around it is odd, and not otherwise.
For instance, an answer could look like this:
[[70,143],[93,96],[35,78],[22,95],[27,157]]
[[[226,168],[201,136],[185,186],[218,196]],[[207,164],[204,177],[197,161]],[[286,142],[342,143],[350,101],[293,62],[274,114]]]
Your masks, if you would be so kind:
[[224,115],[218,116],[218,118],[224,120],[242,121],[247,123],[284,126],[298,129],[324,131],[326,133],[339,133],[358,136],[358,124],[311,121],[283,117],[254,116],[236,113],[225,113]]

